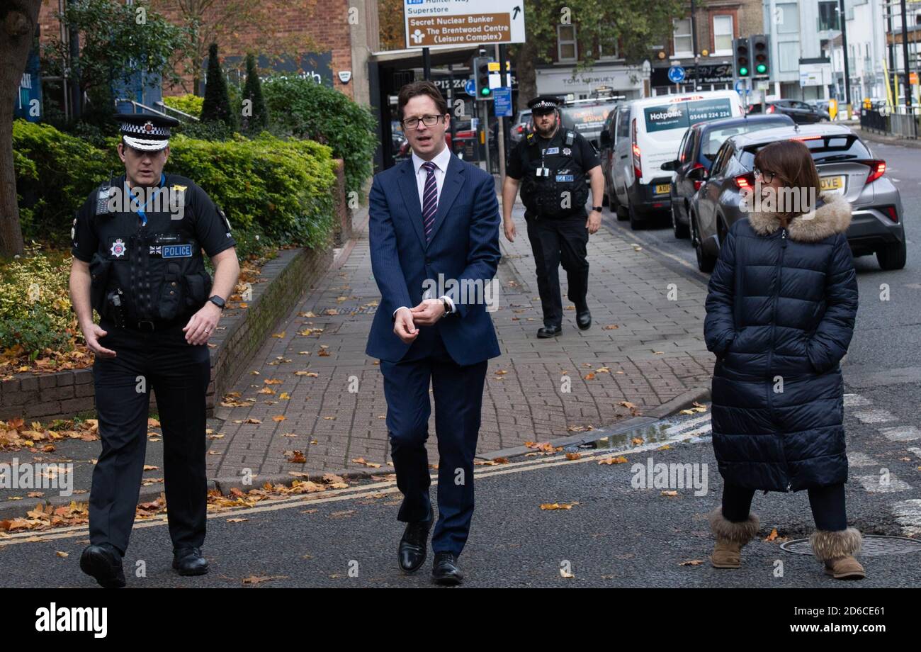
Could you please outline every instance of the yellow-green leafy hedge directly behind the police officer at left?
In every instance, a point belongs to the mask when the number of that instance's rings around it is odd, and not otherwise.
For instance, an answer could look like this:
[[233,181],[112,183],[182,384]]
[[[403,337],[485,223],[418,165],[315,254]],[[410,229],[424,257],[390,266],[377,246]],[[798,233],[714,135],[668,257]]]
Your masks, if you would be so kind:
[[[124,166],[110,138],[99,149],[53,127],[13,123],[14,165],[27,241],[66,246],[74,212]],[[200,185],[224,209],[240,255],[271,244],[322,247],[332,232],[335,162],[327,146],[263,133],[248,139],[170,139],[166,170]]]

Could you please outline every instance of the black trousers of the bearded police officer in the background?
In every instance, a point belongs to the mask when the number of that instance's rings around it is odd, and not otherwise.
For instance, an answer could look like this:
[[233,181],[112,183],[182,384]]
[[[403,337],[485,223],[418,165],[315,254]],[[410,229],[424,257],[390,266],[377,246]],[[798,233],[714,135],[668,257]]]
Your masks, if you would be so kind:
[[589,229],[583,213],[564,219],[525,215],[528,239],[537,269],[537,289],[541,295],[543,325],[555,328],[563,323],[559,266],[563,264],[569,282],[567,297],[577,310],[588,308],[589,261],[586,260]]

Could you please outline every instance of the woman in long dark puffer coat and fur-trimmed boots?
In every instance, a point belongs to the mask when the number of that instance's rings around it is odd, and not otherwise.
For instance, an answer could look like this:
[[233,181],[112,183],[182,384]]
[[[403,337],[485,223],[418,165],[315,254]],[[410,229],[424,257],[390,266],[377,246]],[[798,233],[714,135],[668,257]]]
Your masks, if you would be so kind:
[[724,480],[722,508],[710,515],[717,537],[711,560],[717,568],[739,567],[741,547],[758,530],[750,513],[756,490],[806,489],[813,552],[830,575],[863,577],[853,556],[860,532],[847,528],[845,515],[839,367],[857,315],[845,237],[850,204],[820,194],[810,151],[799,141],[764,147],[754,167],[756,196],[783,200],[783,189],[798,188],[799,199],[811,193],[817,200],[749,212],[729,228],[710,278],[704,335],[717,355],[713,447]]

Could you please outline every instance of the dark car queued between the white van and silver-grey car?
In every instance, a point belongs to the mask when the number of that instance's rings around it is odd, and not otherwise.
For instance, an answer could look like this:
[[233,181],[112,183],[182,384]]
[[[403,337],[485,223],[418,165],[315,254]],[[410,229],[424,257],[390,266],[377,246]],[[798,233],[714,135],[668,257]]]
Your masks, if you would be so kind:
[[678,158],[662,164],[662,169],[674,171],[671,180],[671,228],[675,238],[687,238],[690,235],[688,220],[691,199],[700,190],[702,181],[690,180],[688,172],[692,169],[709,170],[717,157],[719,148],[729,136],[746,134],[761,129],[774,127],[792,127],[793,119],[788,115],[752,115],[741,118],[725,118],[711,122],[692,124],[684,134],[678,148]]

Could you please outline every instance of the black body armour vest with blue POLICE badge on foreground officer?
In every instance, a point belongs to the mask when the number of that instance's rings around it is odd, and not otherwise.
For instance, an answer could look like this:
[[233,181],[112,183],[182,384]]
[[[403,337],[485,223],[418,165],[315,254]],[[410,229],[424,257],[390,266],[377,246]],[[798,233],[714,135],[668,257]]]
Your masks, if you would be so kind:
[[[89,263],[93,308],[100,316],[111,318],[109,296],[120,289],[124,317],[129,323],[173,322],[191,317],[208,298],[211,276],[204,270],[201,246],[192,229],[193,215],[186,205],[185,187],[162,186],[159,200],[148,203],[148,207],[161,210],[140,213],[111,212],[111,196],[116,188],[127,192],[123,182],[120,188],[106,183],[96,191],[93,219],[99,250]],[[181,192],[177,203],[182,205],[181,219],[174,219],[179,214],[170,205],[167,192]],[[157,201],[161,204],[157,205]]]

